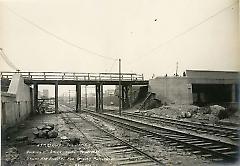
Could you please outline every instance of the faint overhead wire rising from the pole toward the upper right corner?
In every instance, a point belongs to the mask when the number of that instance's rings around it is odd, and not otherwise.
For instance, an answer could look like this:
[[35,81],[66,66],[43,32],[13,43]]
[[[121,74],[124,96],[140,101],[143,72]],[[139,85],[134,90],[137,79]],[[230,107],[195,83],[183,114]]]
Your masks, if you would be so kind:
[[[172,42],[173,40],[178,39],[178,38],[180,38],[181,36],[183,36],[183,35],[185,35],[185,34],[191,32],[191,31],[193,31],[194,29],[196,29],[196,28],[199,27],[200,25],[202,25],[202,24],[208,22],[208,21],[209,21],[210,19],[212,19],[213,17],[215,17],[215,16],[219,15],[220,13],[224,12],[225,10],[231,8],[231,7],[232,7],[233,5],[235,5],[237,2],[238,2],[238,0],[235,1],[234,3],[231,3],[231,4],[228,5],[227,7],[225,7],[225,8],[223,8],[223,9],[217,11],[217,12],[214,13],[213,15],[211,15],[211,16],[205,18],[204,20],[200,21],[198,24],[195,24],[195,25],[189,27],[189,28],[186,29],[185,31],[183,31],[183,32],[181,32],[181,33],[179,33],[179,34],[173,36],[172,38],[170,38],[170,39],[166,40],[165,42],[159,44],[158,46],[152,48],[152,49],[151,49],[150,51],[148,51],[147,53],[143,54],[142,56],[137,57],[137,58],[138,58],[138,61],[140,61],[143,57],[148,56],[148,55],[149,55],[150,53],[152,53],[153,51],[155,51],[155,50],[157,50],[157,49],[163,47],[164,45],[166,45],[166,44]],[[130,65],[132,65],[133,62],[136,64],[136,63],[137,63],[137,60],[134,60],[134,61],[130,62]]]

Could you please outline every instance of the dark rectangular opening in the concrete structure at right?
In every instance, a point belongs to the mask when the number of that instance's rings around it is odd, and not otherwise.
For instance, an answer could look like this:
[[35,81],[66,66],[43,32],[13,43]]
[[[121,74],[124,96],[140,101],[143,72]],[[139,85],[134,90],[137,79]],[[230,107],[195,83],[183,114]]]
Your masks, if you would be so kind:
[[225,105],[232,101],[232,84],[192,84],[193,104]]

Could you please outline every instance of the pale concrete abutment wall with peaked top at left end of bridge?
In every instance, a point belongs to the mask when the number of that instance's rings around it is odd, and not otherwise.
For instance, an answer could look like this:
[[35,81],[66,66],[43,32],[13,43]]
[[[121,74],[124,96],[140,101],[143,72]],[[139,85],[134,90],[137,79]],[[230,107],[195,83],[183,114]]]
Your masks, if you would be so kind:
[[30,87],[24,84],[20,74],[15,74],[7,93],[1,93],[2,129],[12,127],[31,113]]

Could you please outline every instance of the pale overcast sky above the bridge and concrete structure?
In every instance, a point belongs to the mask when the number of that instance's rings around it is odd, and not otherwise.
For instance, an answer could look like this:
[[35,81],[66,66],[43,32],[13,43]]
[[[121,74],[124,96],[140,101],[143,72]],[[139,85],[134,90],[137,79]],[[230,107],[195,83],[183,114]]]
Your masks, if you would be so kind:
[[22,71],[118,72],[98,55],[146,78],[240,69],[237,0],[0,2],[0,47]]

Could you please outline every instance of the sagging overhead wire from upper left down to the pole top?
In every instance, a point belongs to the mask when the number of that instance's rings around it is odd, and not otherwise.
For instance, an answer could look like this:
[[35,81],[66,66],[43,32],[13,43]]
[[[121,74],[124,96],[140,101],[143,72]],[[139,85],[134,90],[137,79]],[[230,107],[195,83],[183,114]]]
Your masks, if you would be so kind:
[[69,41],[69,40],[64,39],[63,37],[60,37],[60,36],[58,36],[58,35],[50,32],[50,31],[47,30],[46,28],[43,28],[42,26],[34,23],[33,21],[27,19],[26,17],[18,14],[17,12],[15,12],[13,9],[9,8],[8,6],[6,6],[6,8],[7,8],[11,13],[13,13],[15,16],[17,16],[18,18],[21,18],[23,21],[31,24],[31,25],[34,26],[35,28],[41,30],[42,32],[44,32],[44,33],[46,33],[46,34],[54,37],[55,39],[57,39],[57,40],[65,43],[65,44],[68,44],[68,45],[70,45],[70,46],[72,46],[72,47],[75,47],[75,48],[80,49],[80,50],[83,50],[83,51],[85,51],[85,52],[87,52],[87,53],[89,53],[89,54],[92,54],[92,55],[95,55],[95,56],[98,56],[98,57],[101,57],[101,58],[104,58],[104,59],[114,60],[114,61],[117,60],[117,59],[114,59],[114,58],[111,58],[111,57],[108,57],[108,56],[104,56],[104,55],[102,55],[102,54],[99,54],[99,53],[97,53],[97,52],[91,51],[91,50],[89,50],[89,49],[80,47],[79,45],[77,45],[77,44],[75,44],[75,43],[73,43],[73,42],[71,42],[71,41]]

